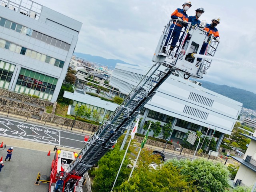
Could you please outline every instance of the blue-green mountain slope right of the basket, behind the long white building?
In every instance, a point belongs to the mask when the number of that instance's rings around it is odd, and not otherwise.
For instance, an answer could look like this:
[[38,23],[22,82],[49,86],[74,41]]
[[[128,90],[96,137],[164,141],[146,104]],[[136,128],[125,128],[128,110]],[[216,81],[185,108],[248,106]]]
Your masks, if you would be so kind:
[[202,87],[206,89],[209,89],[230,99],[241,102],[244,108],[256,110],[256,94],[252,92],[243,89],[238,89],[235,87],[229,87],[227,85],[217,85],[208,81],[196,81],[201,82]]

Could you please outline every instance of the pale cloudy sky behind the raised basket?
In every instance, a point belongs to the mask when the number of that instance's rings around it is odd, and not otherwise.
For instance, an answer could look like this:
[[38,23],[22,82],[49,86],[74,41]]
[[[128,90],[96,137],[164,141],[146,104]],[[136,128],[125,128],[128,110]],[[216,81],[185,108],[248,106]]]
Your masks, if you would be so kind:
[[[75,52],[151,66],[158,40],[170,15],[183,0],[34,0],[83,23]],[[200,20],[220,16],[220,44],[203,80],[256,93],[256,22],[254,1],[194,0],[187,11]]]

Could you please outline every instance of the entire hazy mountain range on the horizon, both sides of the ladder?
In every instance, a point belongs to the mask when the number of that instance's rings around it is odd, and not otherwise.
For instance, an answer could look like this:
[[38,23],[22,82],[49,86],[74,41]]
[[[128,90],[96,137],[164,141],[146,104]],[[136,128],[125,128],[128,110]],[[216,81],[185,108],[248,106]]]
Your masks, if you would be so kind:
[[[109,69],[114,69],[116,67],[116,63],[129,64],[119,59],[106,59],[100,56],[92,56],[84,53],[74,53],[79,58],[83,58],[84,60],[88,60],[90,62],[98,63],[102,66],[108,66]],[[129,64],[132,65],[132,64]],[[202,83],[202,87],[212,90],[218,94],[241,102],[244,108],[256,110],[256,94],[238,89],[235,87],[229,87],[227,85],[218,85],[208,81],[196,80]]]

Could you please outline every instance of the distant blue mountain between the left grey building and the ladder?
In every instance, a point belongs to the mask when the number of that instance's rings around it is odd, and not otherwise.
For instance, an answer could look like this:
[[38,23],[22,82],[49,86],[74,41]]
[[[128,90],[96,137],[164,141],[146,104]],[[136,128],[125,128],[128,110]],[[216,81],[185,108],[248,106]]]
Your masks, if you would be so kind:
[[76,53],[76,52],[74,52],[74,55],[76,55],[77,57],[82,58],[84,60],[88,60],[90,62],[95,62],[95,63],[101,64],[102,66],[108,66],[108,68],[112,69],[112,70],[116,67],[116,63],[123,63],[123,64],[131,65],[130,63],[126,63],[119,59],[106,59],[106,58],[103,58],[100,56],[92,56],[89,54]]

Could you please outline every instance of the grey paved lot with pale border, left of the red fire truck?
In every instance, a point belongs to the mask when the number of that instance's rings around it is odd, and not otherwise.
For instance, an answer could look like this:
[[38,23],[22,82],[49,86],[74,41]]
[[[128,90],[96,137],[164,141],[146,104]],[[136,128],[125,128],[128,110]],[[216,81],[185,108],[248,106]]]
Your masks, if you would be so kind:
[[[6,150],[13,146],[11,162],[4,162],[0,172],[0,192],[47,192],[48,184],[34,185],[38,172],[50,175],[50,166],[54,157],[54,145],[24,141],[0,136],[6,149],[0,148],[0,157],[6,157]],[[61,147],[60,147],[61,148]],[[64,148],[62,148],[64,149]],[[71,150],[70,148],[65,148]],[[50,156],[47,156],[51,150]]]

